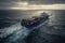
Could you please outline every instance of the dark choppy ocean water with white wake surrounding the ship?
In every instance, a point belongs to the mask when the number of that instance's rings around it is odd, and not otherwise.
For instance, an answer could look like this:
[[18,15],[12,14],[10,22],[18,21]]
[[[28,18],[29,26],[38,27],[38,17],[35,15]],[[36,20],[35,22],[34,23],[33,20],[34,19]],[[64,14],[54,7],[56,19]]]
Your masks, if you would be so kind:
[[[29,29],[21,26],[23,18],[50,15],[48,23],[29,34]],[[22,37],[23,35],[23,37]],[[25,38],[25,39],[23,39]],[[0,10],[0,42],[1,43],[65,43],[65,11],[20,11]]]

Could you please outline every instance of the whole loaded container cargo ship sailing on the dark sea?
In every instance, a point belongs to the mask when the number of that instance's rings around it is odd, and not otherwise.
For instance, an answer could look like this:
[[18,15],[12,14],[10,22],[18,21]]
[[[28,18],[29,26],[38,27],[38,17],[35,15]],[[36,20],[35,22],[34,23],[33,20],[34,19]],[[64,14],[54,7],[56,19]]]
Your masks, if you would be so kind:
[[21,25],[26,28],[34,28],[49,19],[49,14],[43,12],[40,16],[32,16],[31,18],[22,19]]

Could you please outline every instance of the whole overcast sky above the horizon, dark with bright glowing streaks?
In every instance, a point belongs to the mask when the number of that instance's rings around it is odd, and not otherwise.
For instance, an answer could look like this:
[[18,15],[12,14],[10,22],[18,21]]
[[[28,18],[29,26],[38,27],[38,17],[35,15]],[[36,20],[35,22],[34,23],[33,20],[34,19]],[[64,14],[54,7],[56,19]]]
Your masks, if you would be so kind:
[[65,10],[65,0],[0,0],[0,10]]

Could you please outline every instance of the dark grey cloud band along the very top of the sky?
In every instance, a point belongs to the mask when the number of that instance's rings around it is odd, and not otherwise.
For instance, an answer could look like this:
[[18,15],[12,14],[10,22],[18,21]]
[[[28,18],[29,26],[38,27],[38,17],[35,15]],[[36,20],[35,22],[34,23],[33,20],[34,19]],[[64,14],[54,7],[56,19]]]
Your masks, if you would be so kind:
[[53,4],[53,3],[65,3],[65,0],[0,0],[0,2],[23,2],[27,1],[29,3],[36,4]]

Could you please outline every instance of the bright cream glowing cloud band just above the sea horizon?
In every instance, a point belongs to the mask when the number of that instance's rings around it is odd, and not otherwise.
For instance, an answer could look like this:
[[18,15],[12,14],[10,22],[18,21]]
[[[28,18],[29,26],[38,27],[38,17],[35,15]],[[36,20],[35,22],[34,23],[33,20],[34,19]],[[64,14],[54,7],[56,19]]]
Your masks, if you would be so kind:
[[25,5],[11,8],[13,10],[65,10],[65,4],[50,4],[50,5]]

